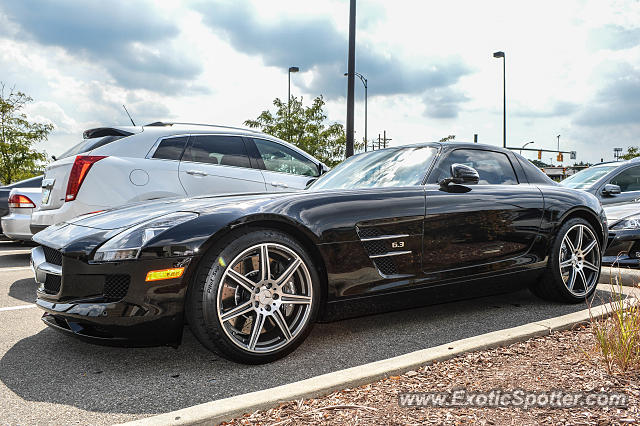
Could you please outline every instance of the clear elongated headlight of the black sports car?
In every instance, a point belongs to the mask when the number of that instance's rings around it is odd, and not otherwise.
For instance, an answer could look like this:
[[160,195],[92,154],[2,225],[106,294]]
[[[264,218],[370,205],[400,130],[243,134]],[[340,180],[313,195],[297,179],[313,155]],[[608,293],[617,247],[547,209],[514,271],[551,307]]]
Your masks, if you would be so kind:
[[102,245],[93,256],[95,262],[137,259],[140,249],[169,228],[198,217],[197,213],[177,212],[142,222],[126,229]]

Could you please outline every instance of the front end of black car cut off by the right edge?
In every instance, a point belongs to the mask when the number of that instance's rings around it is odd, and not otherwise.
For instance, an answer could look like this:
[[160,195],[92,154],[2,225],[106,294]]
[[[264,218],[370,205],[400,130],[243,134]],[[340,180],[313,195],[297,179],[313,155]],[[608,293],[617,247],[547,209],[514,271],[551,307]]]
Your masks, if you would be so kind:
[[605,206],[609,222],[609,244],[603,265],[640,266],[640,203]]

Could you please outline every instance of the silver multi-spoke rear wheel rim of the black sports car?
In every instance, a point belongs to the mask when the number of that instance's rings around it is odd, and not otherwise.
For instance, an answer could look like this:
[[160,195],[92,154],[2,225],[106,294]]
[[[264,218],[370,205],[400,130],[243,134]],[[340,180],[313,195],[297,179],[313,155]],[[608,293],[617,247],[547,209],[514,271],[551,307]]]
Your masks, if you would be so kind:
[[560,276],[571,294],[583,297],[597,284],[600,247],[589,227],[574,225],[562,238],[559,253]]

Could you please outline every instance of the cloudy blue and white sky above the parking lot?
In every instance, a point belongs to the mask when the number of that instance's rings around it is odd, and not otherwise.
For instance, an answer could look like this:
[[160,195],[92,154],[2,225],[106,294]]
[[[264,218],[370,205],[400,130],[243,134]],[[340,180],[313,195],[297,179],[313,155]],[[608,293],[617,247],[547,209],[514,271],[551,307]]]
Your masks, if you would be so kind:
[[[346,117],[346,0],[0,0],[0,81],[31,95],[59,154],[83,130],[157,120],[242,125],[293,95]],[[640,1],[359,0],[369,138],[456,135],[610,160],[640,145]],[[356,138],[364,136],[356,80]],[[527,155],[535,158],[535,154]],[[545,154],[543,160],[549,161]],[[568,161],[566,161],[567,163]],[[555,162],[555,158],[554,158]]]

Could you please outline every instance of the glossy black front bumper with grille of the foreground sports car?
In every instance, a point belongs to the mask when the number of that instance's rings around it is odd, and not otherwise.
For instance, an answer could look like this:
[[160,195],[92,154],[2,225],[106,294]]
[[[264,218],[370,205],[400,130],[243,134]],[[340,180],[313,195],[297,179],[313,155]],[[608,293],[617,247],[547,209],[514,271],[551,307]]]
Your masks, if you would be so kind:
[[[48,247],[32,250],[36,305],[48,326],[92,343],[177,346],[191,257],[91,264]],[[148,271],[184,266],[180,278],[146,282]]]

